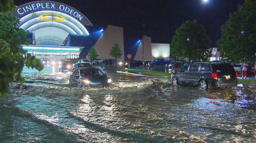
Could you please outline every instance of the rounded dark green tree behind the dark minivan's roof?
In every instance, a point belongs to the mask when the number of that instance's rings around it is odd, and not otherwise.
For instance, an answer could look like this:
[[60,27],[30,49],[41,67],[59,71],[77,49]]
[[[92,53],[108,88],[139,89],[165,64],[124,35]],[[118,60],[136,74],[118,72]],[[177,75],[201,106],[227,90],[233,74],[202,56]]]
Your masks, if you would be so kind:
[[175,32],[171,42],[172,58],[208,60],[211,54],[210,39],[201,24],[187,20]]

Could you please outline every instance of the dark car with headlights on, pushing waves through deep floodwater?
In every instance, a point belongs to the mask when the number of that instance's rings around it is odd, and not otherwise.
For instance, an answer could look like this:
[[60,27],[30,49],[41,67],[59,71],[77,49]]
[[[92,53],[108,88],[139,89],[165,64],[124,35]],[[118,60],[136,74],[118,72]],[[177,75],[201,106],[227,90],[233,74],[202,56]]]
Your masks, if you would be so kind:
[[69,84],[79,88],[91,85],[108,85],[110,83],[112,83],[112,79],[108,78],[98,68],[76,68],[69,78]]

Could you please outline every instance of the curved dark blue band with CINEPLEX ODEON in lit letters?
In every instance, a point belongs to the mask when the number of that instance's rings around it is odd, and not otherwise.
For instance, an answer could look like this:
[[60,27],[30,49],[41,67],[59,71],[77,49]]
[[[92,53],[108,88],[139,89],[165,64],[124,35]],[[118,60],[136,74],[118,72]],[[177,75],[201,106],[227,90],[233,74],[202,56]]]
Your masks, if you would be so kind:
[[83,14],[80,14],[75,8],[72,8],[70,6],[58,3],[58,2],[49,2],[49,1],[40,1],[40,2],[29,2],[27,4],[24,4],[22,6],[19,6],[16,10],[17,14],[19,14],[19,17],[22,17],[26,14],[40,11],[40,10],[53,10],[58,11],[62,13],[69,14],[73,16],[74,18],[77,18],[77,20],[83,19]]

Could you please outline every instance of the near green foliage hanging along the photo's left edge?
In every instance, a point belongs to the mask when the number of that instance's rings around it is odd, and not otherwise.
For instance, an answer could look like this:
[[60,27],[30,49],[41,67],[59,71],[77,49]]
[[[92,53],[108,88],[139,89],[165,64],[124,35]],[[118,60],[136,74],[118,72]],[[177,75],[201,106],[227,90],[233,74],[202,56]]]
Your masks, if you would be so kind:
[[[11,9],[12,3],[12,0],[1,1],[0,5],[2,10],[0,12],[0,97],[5,97],[10,83],[14,80],[21,84],[25,82],[21,77],[25,51],[20,48],[20,45],[28,44],[29,39],[26,39],[27,32],[17,27],[19,20],[10,12],[6,12]],[[39,71],[44,68],[44,64],[35,59],[35,56],[27,57],[26,66]]]

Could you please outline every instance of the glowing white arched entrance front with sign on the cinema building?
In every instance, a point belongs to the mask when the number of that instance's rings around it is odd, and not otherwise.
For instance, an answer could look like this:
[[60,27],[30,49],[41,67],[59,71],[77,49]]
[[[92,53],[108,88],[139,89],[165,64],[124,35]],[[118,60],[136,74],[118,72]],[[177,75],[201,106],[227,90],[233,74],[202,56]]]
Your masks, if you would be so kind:
[[[31,38],[30,44],[33,47],[54,46],[51,50],[44,51],[50,51],[53,54],[60,54],[58,51],[61,51],[61,46],[66,45],[70,34],[89,35],[85,26],[93,26],[89,19],[75,8],[54,1],[35,1],[23,4],[17,7],[13,15],[20,20],[19,28],[30,31],[28,38]],[[40,51],[40,48],[35,49],[37,52]],[[27,50],[31,52],[33,48]]]

